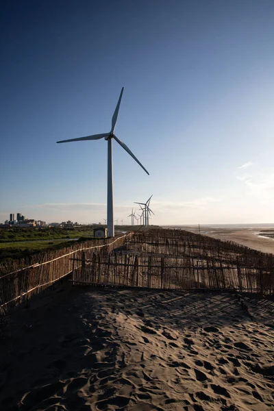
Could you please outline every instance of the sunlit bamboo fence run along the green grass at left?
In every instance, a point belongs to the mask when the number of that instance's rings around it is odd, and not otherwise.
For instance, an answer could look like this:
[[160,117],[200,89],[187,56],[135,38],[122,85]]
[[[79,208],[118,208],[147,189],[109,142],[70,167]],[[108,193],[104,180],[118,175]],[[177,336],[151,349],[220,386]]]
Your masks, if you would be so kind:
[[111,253],[112,249],[125,244],[132,234],[117,238],[100,238],[71,247],[49,252],[38,253],[32,256],[26,264],[25,260],[5,262],[0,266],[0,315],[14,310],[16,306],[28,301],[58,280],[71,274],[77,268],[74,257],[92,256],[94,252],[104,250]]

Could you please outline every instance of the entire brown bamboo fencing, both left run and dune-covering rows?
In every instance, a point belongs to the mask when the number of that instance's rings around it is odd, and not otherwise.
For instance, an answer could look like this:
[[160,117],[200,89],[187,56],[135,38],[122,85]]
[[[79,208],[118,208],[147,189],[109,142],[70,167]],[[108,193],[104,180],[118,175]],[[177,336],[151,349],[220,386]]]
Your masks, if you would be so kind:
[[0,314],[72,273],[73,284],[274,295],[274,256],[179,229],[98,239],[0,266]]

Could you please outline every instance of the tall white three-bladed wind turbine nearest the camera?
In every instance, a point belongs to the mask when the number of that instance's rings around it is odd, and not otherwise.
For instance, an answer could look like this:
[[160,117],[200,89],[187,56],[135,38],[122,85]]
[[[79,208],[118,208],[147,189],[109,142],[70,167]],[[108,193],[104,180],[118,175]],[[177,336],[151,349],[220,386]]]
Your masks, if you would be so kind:
[[103,134],[93,134],[92,136],[86,136],[86,137],[79,137],[79,138],[71,138],[70,140],[61,140],[57,142],[71,142],[71,141],[84,141],[84,140],[99,140],[99,138],[105,138],[105,140],[108,141],[108,212],[107,212],[107,220],[108,220],[108,236],[113,237],[114,236],[114,216],[113,216],[113,174],[112,174],[112,138],[118,142],[121,147],[129,155],[134,158],[136,162],[138,162],[139,166],[142,167],[142,169],[149,175],[149,172],[145,169],[144,166],[140,163],[140,161],[135,157],[134,153],[129,150],[129,148],[125,145],[125,143],[121,140],[119,140],[118,137],[115,136],[114,134],[114,129],[116,126],[116,121],[119,113],[119,108],[121,104],[121,99],[123,95],[123,90],[122,88],[120,97],[118,100],[118,103],[116,105],[116,109],[114,111],[114,114],[112,116],[112,127],[109,133],[103,133]]

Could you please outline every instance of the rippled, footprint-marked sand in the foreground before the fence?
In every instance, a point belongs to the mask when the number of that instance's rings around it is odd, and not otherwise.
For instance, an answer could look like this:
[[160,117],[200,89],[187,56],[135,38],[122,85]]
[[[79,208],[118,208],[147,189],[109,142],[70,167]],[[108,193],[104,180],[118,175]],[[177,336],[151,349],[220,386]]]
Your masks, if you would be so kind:
[[245,301],[65,283],[10,318],[0,408],[273,410],[274,303]]

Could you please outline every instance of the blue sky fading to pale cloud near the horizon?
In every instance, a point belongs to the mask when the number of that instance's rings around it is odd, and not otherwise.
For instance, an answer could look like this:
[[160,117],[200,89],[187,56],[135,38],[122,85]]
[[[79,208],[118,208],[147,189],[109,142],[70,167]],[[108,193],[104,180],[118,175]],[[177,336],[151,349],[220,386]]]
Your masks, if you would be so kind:
[[[273,223],[272,0],[3,1],[0,221]],[[137,211],[137,207],[135,207]]]

